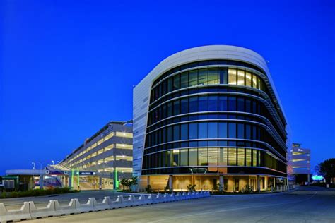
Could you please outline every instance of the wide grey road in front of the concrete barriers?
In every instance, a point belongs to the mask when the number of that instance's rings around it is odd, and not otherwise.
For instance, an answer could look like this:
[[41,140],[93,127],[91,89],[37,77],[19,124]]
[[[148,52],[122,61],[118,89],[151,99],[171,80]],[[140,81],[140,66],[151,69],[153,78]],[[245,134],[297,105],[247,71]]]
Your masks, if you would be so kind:
[[335,190],[310,187],[291,193],[216,195],[30,222],[335,222]]

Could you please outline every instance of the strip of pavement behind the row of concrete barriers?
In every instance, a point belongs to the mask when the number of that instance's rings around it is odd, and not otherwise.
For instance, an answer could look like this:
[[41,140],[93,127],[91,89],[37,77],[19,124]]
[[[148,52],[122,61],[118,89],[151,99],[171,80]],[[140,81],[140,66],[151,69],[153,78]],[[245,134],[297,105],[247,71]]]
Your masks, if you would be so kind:
[[40,197],[0,199],[0,203],[4,203],[7,210],[14,210],[20,209],[25,201],[33,201],[36,207],[46,207],[49,200],[58,200],[61,205],[68,205],[71,198],[78,198],[80,203],[86,203],[88,198],[95,198],[98,202],[102,202],[105,196],[110,196],[110,198],[114,199],[117,198],[117,195],[127,195],[127,193],[117,193],[112,190],[81,191],[80,193],[66,193]]

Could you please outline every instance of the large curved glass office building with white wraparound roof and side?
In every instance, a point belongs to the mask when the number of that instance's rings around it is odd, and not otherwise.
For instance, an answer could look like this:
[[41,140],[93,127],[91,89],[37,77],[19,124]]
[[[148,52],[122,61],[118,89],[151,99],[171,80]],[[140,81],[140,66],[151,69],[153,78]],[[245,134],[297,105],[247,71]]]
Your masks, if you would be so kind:
[[213,45],[169,56],[134,88],[141,188],[254,191],[287,183],[290,143],[266,61]]

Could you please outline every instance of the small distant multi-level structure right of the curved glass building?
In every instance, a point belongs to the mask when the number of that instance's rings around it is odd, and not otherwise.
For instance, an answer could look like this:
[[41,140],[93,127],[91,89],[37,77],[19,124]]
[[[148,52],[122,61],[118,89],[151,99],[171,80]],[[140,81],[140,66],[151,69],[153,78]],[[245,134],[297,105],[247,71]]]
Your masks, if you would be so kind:
[[288,152],[288,174],[290,183],[305,184],[310,182],[310,149],[293,143]]

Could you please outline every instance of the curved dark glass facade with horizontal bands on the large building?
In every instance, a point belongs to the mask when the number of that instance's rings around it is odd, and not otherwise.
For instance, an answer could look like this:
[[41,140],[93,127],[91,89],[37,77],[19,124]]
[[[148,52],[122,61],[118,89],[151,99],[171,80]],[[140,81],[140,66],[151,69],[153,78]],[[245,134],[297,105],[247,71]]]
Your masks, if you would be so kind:
[[229,60],[172,68],[151,85],[142,175],[286,177],[286,121],[266,73]]

